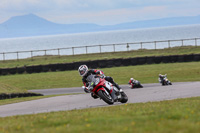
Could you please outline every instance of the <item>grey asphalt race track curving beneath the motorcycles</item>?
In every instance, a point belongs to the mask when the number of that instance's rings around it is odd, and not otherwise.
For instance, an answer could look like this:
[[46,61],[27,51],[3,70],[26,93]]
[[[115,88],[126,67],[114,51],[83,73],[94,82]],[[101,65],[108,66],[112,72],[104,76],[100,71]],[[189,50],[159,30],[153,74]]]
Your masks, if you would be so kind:
[[[143,86],[144,88],[141,89],[130,89],[128,85],[121,86],[128,95],[128,103],[152,102],[200,96],[200,82],[178,82],[173,83],[171,86],[143,84]],[[33,92],[43,93],[44,95],[84,93],[81,87],[34,90]],[[121,105],[121,103],[115,103],[114,105]],[[0,106],[0,117],[103,106],[113,105],[108,105],[100,99],[93,99],[90,94],[64,95],[2,105]]]

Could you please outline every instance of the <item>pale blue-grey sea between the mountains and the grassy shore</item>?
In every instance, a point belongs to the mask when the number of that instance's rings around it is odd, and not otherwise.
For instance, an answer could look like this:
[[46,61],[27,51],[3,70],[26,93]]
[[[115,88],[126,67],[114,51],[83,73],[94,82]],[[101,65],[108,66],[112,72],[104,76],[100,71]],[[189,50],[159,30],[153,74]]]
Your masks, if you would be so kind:
[[[73,55],[195,45],[194,40],[184,41],[184,43],[182,41],[171,41],[170,44],[167,41],[193,38],[200,38],[200,24],[0,38],[0,60],[29,58],[41,55]],[[200,39],[196,40],[196,45],[200,45]]]

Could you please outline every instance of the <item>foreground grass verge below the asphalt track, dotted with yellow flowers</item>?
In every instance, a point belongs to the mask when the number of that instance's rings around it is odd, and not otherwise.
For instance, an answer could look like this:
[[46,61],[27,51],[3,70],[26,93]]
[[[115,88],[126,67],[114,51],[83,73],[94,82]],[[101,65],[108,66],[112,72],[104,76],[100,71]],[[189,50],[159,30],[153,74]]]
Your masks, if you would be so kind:
[[1,133],[199,133],[200,97],[0,118]]

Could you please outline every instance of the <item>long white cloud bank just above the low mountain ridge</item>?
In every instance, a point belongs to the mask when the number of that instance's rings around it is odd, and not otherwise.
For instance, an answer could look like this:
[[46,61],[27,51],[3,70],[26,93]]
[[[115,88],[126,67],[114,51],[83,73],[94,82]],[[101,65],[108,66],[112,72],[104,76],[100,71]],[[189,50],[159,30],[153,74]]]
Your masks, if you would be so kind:
[[123,8],[96,12],[67,13],[65,15],[54,17],[53,21],[60,20],[60,23],[96,23],[102,25],[118,24],[122,22],[156,18],[158,13],[166,10],[164,6],[152,6],[144,8]]

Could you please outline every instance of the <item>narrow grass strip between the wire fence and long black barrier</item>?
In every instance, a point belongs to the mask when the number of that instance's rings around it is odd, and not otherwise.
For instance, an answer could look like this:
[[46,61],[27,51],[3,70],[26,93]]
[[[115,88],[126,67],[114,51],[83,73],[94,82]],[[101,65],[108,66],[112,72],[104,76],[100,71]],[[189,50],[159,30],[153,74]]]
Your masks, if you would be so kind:
[[12,68],[30,65],[45,65],[55,63],[70,63],[88,60],[113,59],[113,58],[129,58],[144,56],[160,56],[160,55],[183,55],[183,54],[199,54],[200,46],[184,46],[173,47],[157,50],[134,50],[128,52],[111,52],[69,56],[38,56],[28,59],[0,61],[0,68]]

